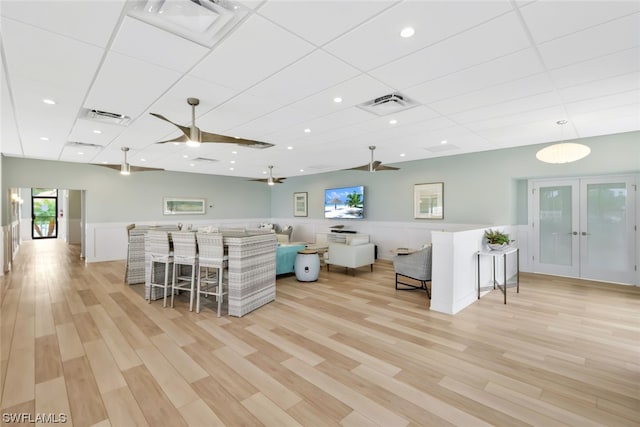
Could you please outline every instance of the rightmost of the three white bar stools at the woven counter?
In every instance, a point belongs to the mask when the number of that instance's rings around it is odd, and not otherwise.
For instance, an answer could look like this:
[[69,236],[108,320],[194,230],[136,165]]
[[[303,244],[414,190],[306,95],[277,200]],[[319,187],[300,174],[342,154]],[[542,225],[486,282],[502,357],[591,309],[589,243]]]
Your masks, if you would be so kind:
[[[200,313],[200,295],[215,295],[218,302],[218,317],[224,299],[224,287],[222,279],[224,268],[229,257],[224,254],[224,244],[222,234],[202,233],[196,234],[198,240],[198,297],[196,301],[196,313]],[[202,269],[204,268],[204,275]],[[214,272],[209,272],[214,269]],[[213,289],[209,286],[213,285]]]

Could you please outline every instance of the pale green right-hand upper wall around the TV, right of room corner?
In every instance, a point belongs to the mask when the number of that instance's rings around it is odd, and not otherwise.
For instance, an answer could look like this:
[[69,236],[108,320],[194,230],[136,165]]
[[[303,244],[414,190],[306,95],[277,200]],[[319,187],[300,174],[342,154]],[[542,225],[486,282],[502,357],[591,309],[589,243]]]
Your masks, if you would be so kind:
[[290,177],[272,189],[271,216],[291,217],[293,193],[306,191],[309,218],[322,219],[325,188],[364,184],[366,220],[437,223],[439,220],[413,218],[413,186],[444,182],[444,222],[526,224],[528,179],[640,172],[640,132],[577,142],[590,146],[591,155],[562,165],[538,161],[536,152],[549,145],[538,144],[394,163],[401,168],[399,171],[339,171]]

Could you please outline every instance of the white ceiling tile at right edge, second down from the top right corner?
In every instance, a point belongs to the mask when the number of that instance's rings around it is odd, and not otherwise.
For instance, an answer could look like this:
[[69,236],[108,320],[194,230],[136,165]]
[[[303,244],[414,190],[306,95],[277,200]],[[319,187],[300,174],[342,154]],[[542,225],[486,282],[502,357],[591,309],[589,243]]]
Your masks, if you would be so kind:
[[538,46],[550,69],[640,45],[640,13],[588,28]]

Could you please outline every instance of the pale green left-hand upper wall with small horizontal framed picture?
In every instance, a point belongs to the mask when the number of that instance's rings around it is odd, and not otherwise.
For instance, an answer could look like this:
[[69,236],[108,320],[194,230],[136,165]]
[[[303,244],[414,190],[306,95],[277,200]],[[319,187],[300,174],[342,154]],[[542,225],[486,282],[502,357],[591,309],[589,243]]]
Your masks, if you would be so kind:
[[[3,192],[11,187],[87,190],[87,222],[92,223],[185,222],[270,215],[266,186],[245,178],[169,171],[122,176],[100,166],[15,157],[3,157],[2,172]],[[206,214],[164,216],[163,197],[205,198]],[[4,217],[3,223],[6,224]]]

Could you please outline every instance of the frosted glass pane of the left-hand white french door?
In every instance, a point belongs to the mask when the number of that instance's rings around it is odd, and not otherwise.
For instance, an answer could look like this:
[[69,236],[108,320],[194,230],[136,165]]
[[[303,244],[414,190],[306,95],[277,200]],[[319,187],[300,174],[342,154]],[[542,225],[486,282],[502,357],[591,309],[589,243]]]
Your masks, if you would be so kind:
[[571,186],[540,188],[540,253],[544,264],[572,265]]

